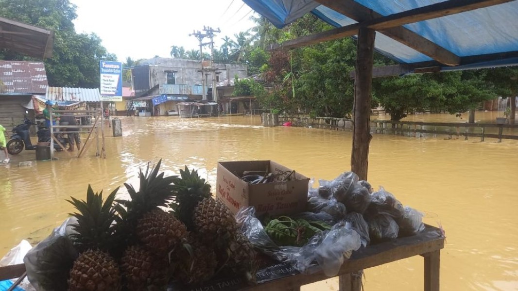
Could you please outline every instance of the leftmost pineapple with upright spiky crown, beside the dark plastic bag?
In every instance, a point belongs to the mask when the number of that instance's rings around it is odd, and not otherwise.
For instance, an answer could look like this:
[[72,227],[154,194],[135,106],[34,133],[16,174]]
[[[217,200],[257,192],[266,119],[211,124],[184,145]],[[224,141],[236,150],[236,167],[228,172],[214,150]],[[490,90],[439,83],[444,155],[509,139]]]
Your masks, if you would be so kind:
[[114,243],[113,222],[117,211],[112,208],[117,188],[103,202],[103,192],[94,193],[88,186],[87,201],[74,197],[67,200],[79,211],[71,216],[77,223],[71,225],[75,234],[70,238],[81,253],[70,270],[70,291],[120,290],[121,274],[115,260],[107,253]]

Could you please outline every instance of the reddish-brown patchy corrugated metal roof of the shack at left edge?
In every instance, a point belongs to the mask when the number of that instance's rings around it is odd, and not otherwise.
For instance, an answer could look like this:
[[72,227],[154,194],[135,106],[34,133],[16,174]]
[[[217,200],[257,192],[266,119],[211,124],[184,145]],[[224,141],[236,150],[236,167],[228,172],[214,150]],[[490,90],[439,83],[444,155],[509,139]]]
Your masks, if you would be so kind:
[[0,60],[0,93],[44,94],[49,86],[45,64]]

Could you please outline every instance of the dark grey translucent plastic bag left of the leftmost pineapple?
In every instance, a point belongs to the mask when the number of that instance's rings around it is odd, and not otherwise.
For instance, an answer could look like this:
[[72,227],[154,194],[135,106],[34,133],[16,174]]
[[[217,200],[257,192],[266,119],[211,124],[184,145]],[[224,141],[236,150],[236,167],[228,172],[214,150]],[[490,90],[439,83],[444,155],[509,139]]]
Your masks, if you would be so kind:
[[73,233],[70,224],[73,217],[56,227],[52,234],[27,252],[23,258],[27,278],[39,291],[67,290],[67,278],[79,252],[74,248],[68,235]]

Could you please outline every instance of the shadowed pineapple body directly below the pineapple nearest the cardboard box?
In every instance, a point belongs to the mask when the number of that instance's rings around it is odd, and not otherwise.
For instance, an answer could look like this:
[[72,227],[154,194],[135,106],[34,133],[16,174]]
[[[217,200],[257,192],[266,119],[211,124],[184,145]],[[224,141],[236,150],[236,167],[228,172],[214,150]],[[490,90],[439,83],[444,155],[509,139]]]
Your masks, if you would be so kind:
[[209,280],[218,265],[214,250],[194,237],[189,239],[187,247],[172,253],[172,259],[176,262],[174,276],[184,284]]

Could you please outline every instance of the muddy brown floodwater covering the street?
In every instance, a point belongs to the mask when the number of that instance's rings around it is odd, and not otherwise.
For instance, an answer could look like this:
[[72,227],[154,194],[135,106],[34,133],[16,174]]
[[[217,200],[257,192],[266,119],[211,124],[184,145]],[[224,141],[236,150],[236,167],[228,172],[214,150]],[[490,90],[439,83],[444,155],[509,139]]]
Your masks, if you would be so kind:
[[[272,159],[316,179],[350,169],[350,132],[259,123],[241,116],[123,117],[123,137],[106,138],[105,160],[92,146],[81,159],[59,153],[59,161],[18,167],[35,157],[23,151],[0,166],[0,257],[21,239],[46,237],[73,211],[65,202],[70,195],[84,198],[89,183],[105,191],[135,183],[148,161],[163,158],[168,174],[195,167],[213,187],[222,160]],[[425,212],[426,223],[444,227],[442,290],[518,290],[518,143],[476,140],[375,134],[368,180]],[[421,290],[423,272],[423,258],[413,257],[366,270],[364,284],[366,290]],[[337,290],[338,281],[303,289]]]

